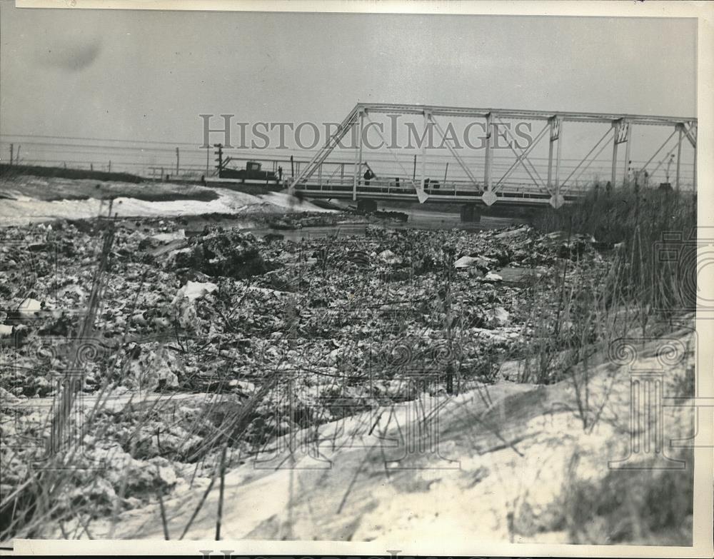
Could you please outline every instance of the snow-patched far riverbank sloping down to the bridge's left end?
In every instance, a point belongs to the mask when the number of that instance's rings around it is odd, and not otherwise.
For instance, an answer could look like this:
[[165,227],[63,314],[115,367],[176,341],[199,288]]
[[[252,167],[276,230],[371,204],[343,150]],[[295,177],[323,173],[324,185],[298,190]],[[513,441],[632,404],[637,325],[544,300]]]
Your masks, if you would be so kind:
[[[98,182],[17,175],[0,179],[0,199],[0,226],[25,226],[57,219],[93,219],[108,215],[109,201],[113,216],[185,218],[192,222],[222,222],[226,226],[241,228],[255,228],[256,223],[268,226],[271,222],[285,221],[286,216],[298,213],[339,212],[344,216],[342,221],[368,221],[351,210],[349,201],[311,203],[286,192],[248,194],[226,188],[170,182]],[[398,220],[394,223],[394,226],[406,228],[476,230],[526,223],[525,217],[508,212],[484,216],[481,223],[463,223],[458,213],[433,204],[380,204],[380,208],[406,216],[406,223],[400,225]],[[386,221],[395,221],[389,217],[385,216]],[[310,225],[306,223],[306,226]]]

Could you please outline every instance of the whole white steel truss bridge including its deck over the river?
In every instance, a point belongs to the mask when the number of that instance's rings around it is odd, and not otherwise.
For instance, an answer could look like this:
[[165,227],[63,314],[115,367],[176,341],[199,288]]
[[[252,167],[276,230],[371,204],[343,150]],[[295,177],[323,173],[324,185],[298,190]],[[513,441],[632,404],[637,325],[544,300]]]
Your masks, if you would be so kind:
[[[436,131],[441,136],[441,141],[446,145],[456,163],[458,163],[466,179],[447,181],[445,177],[444,181],[430,182],[425,167],[427,154],[426,142],[424,142],[421,146],[421,171],[419,173],[416,172],[415,156],[412,176],[407,176],[408,173],[405,172],[403,176],[398,178],[375,177],[363,180],[363,170],[369,168],[368,161],[364,159],[363,131],[366,123],[369,126],[369,123],[372,122],[370,119],[371,114],[411,115],[411,118],[413,116],[423,117],[423,133],[425,136],[428,128]],[[449,119],[459,117],[482,123],[481,126],[485,131],[484,154],[482,165],[478,166],[483,168],[483,175],[479,173],[477,177],[473,163],[467,163],[455,149],[453,141],[447,141],[444,127],[440,122],[442,117]],[[530,145],[521,148],[507,125],[509,122],[513,124],[514,121],[535,121],[542,123],[543,126]],[[600,136],[590,151],[580,159],[573,171],[567,177],[563,177],[565,170],[561,153],[563,142],[568,139],[568,126],[565,126],[566,123],[604,123],[609,124],[609,126],[605,134]],[[643,168],[640,168],[640,172],[645,171],[650,166],[650,163],[655,160],[655,157],[670,143],[670,140],[676,136],[675,144],[670,150],[670,153],[673,151],[677,153],[674,186],[677,189],[680,187],[684,141],[688,141],[693,147],[693,184],[696,185],[697,119],[693,118],[358,103],[338,126],[338,129],[328,138],[324,146],[317,151],[306,165],[301,166],[301,169],[289,183],[289,188],[293,193],[294,191],[301,191],[311,198],[351,198],[353,201],[358,201],[358,199],[400,200],[419,201],[421,203],[428,200],[462,204],[481,202],[487,206],[491,206],[498,201],[499,203],[518,205],[550,204],[554,208],[558,208],[563,203],[568,203],[583,195],[584,191],[578,188],[575,181],[571,181],[571,179],[576,172],[580,173],[578,176],[582,176],[583,171],[607,148],[608,143],[612,146],[610,184],[615,186],[618,182],[624,183],[629,180],[630,139],[635,126],[660,126],[671,129],[668,139],[652,154]],[[499,127],[506,129],[506,136],[511,136],[513,141],[509,142],[508,147],[513,152],[513,156],[515,156],[513,164],[500,177],[495,176],[493,165],[493,149]],[[326,172],[326,166],[331,163],[327,161],[328,156],[340,145],[340,142],[347,134],[356,134],[358,139],[356,146],[354,146],[354,162],[332,163],[333,166],[337,165],[337,167],[331,173]],[[548,141],[547,173],[544,173],[545,176],[541,176],[529,157],[532,155],[533,149],[541,141],[545,143],[546,138]],[[624,159],[620,160],[625,162],[625,169],[622,175],[618,176],[618,157],[621,149],[625,151]],[[669,153],[668,156],[670,156]],[[671,153],[671,156],[672,158],[674,157],[673,153]],[[394,157],[395,161],[397,161],[396,156]],[[672,161],[673,159],[670,160],[670,163]],[[508,180],[518,167],[526,171],[528,179],[525,183],[514,183]],[[618,178],[620,178],[620,181],[618,181]]]

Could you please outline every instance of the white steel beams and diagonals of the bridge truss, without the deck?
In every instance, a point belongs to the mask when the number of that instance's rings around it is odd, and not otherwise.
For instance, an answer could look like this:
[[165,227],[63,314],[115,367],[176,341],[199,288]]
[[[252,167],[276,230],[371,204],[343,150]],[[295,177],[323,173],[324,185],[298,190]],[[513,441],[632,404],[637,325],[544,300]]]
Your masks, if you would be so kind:
[[[585,171],[590,163],[595,161],[603,148],[607,146],[608,141],[612,142],[612,172],[610,183],[615,186],[618,182],[618,156],[620,154],[620,146],[625,149],[625,162],[630,158],[630,138],[634,126],[665,126],[672,129],[672,133],[666,139],[660,148],[649,158],[645,166],[640,171],[645,169],[652,163],[654,158],[660,153],[663,148],[669,143],[673,136],[677,135],[675,149],[677,151],[676,168],[675,168],[675,188],[680,186],[680,161],[683,141],[686,139],[694,150],[694,185],[696,187],[696,153],[697,153],[697,119],[682,118],[676,116],[646,116],[635,114],[604,114],[604,113],[574,113],[574,112],[549,112],[549,111],[525,111],[511,109],[472,109],[463,107],[448,107],[448,106],[427,106],[416,104],[376,104],[376,103],[358,103],[349,112],[346,118],[341,122],[336,131],[328,138],[324,146],[311,158],[306,166],[303,166],[297,176],[293,178],[290,184],[291,191],[295,188],[306,188],[314,173],[321,173],[321,166],[325,163],[328,156],[339,145],[340,141],[350,132],[356,131],[358,139],[355,153],[354,169],[352,173],[352,199],[356,200],[358,195],[358,184],[360,183],[361,169],[365,162],[363,161],[363,130],[365,119],[369,119],[369,114],[389,114],[389,115],[421,115],[423,116],[423,132],[426,135],[428,126],[433,126],[434,129],[441,134],[446,147],[451,152],[451,155],[456,159],[459,166],[466,176],[471,186],[474,188],[473,198],[481,198],[483,203],[491,206],[498,201],[499,191],[503,188],[504,181],[511,173],[520,165],[525,169],[526,173],[533,182],[536,188],[544,188],[549,198],[546,198],[548,203],[554,208],[558,208],[565,202],[565,195],[568,194],[568,186],[570,178],[575,175],[576,171],[580,174]],[[451,143],[446,142],[446,136],[443,127],[438,121],[438,117],[465,117],[468,119],[481,119],[486,131],[486,146],[483,159],[483,181],[479,182],[474,176],[472,169],[463,161]],[[516,156],[516,161],[508,168],[508,171],[498,181],[494,181],[493,177],[493,144],[494,136],[498,134],[498,126],[505,124],[504,121],[541,121],[543,129],[535,136],[533,141],[526,148],[520,148],[517,145],[509,145]],[[570,175],[561,180],[561,152],[562,145],[567,135],[564,134],[565,123],[605,123],[610,124],[608,130],[603,134],[597,143],[588,151],[587,155],[580,160],[575,166]],[[513,134],[506,128],[507,134]],[[528,158],[533,148],[548,136],[548,172],[547,178],[543,179],[535,170],[533,162]],[[604,143],[603,143],[604,142]],[[600,151],[593,156],[593,153],[600,148]],[[593,156],[591,158],[591,156]],[[418,180],[411,181],[416,190],[416,195],[420,202],[426,201],[429,195],[425,191],[426,178],[425,170],[426,160],[426,144],[422,145],[421,159],[421,176]],[[625,173],[623,182],[628,178],[628,168],[625,165]],[[416,176],[416,173],[415,173]],[[309,190],[309,188],[306,188]],[[454,191],[456,195],[456,187]]]

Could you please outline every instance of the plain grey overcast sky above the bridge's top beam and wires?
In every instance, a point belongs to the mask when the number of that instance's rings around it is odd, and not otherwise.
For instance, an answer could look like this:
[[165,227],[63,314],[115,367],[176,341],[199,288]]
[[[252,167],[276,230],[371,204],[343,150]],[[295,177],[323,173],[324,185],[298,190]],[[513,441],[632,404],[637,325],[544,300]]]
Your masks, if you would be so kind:
[[357,101],[695,116],[693,19],[15,9],[3,134],[198,141]]

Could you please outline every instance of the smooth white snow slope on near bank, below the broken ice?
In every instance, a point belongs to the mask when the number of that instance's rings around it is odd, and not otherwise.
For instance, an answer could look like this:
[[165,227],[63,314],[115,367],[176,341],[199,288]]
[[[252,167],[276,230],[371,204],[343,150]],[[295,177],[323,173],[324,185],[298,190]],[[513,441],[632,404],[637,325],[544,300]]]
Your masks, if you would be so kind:
[[[656,353],[657,344],[642,352],[633,369],[653,366],[656,358],[648,355]],[[668,371],[669,389],[688,364]],[[499,383],[489,387],[488,405],[478,391],[448,402],[424,394],[418,406],[403,404],[323,425],[319,453],[331,463],[319,463],[316,451],[298,437],[293,467],[284,465],[290,458],[283,452],[263,465],[248,460],[226,473],[222,533],[229,539],[403,541],[435,553],[467,534],[486,543],[572,543],[563,499],[575,484],[606,489],[610,460],[625,458],[630,448],[628,368],[603,363],[591,373],[590,402],[602,408],[598,422],[585,429],[568,381],[536,388]],[[429,443],[419,428],[412,448],[426,452],[400,463],[406,448],[391,448],[389,441],[400,436],[398,430],[407,436],[421,423],[410,410],[433,410],[438,403],[445,404],[438,438]],[[668,437],[690,432],[691,413],[670,410],[664,418]],[[368,432],[370,425],[376,430]],[[388,471],[394,465],[401,468]],[[630,472],[630,480],[647,475],[646,468]],[[164,503],[172,534],[186,526],[209,480],[196,482]],[[217,493],[208,495],[186,538],[212,537]],[[160,539],[160,519],[156,505],[128,511],[120,515],[116,535]]]

